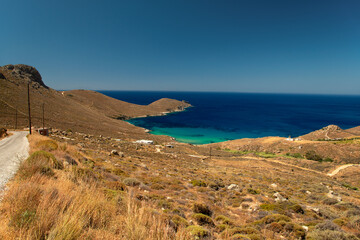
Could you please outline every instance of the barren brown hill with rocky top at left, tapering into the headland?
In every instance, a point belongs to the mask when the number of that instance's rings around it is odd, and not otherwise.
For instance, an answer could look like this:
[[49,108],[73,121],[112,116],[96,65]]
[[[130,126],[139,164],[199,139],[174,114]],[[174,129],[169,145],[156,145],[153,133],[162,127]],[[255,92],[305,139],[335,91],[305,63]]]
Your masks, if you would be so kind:
[[[31,115],[34,126],[42,126],[42,107],[45,125],[62,130],[111,136],[144,136],[144,130],[127,122],[129,119],[164,112],[178,111],[190,104],[161,99],[141,106],[110,98],[86,90],[59,92],[47,87],[40,73],[31,66],[6,65],[0,67],[0,124],[13,128],[17,109],[18,128],[27,127],[27,83],[30,83]],[[148,136],[150,138],[154,136]]]

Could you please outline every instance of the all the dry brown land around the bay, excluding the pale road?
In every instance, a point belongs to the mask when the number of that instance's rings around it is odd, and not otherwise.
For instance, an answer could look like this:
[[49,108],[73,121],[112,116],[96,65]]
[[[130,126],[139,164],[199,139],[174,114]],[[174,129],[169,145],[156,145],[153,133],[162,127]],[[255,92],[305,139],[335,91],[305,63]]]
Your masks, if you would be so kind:
[[[33,113],[47,99],[51,131],[28,137],[30,157],[0,204],[2,239],[360,238],[359,128],[194,146],[121,120],[185,102],[57,92],[14,69],[0,69],[0,112],[17,108],[26,127],[31,79]],[[2,115],[0,127],[13,119]]]

